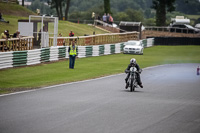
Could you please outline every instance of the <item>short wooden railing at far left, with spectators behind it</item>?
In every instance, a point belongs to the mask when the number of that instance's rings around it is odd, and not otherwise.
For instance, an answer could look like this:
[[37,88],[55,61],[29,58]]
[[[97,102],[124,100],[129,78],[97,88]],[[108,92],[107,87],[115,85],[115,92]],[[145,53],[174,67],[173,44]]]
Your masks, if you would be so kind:
[[22,51],[33,49],[33,36],[11,39],[0,39],[0,52]]

